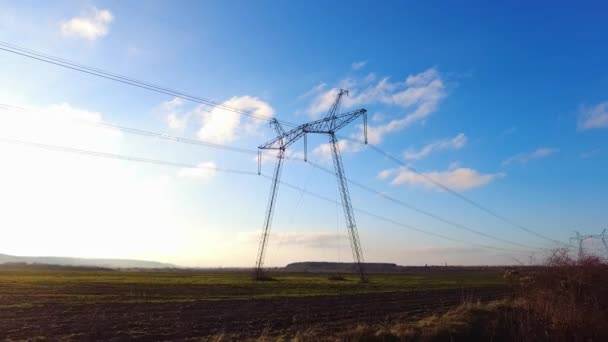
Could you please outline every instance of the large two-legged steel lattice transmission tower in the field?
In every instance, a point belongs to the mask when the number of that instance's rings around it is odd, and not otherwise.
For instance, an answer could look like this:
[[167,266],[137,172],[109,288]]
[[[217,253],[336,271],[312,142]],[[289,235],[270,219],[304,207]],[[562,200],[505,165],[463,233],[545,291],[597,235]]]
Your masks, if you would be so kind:
[[[357,232],[357,224],[355,222],[355,215],[353,213],[353,207],[350,201],[350,194],[348,192],[348,183],[346,175],[344,174],[344,166],[342,165],[342,157],[340,156],[340,148],[338,146],[338,140],[336,139],[336,132],[347,124],[363,116],[363,132],[365,142],[367,143],[367,110],[358,109],[347,113],[338,114],[340,108],[340,102],[342,96],[348,95],[348,91],[340,89],[336,100],[330,107],[327,115],[323,119],[311,121],[300,126],[297,126],[289,131],[284,131],[283,127],[277,120],[273,120],[271,125],[274,126],[277,137],[270,140],[269,142],[260,145],[259,150],[276,150],[276,163],[274,173],[272,177],[272,184],[270,186],[270,195],[268,197],[268,207],[266,209],[266,216],[264,219],[264,228],[262,236],[260,238],[260,245],[258,248],[258,255],[255,264],[255,277],[258,280],[264,279],[264,255],[266,253],[266,245],[268,243],[268,237],[270,233],[270,225],[272,223],[272,215],[274,212],[274,206],[277,198],[277,192],[279,190],[279,182],[281,178],[281,168],[283,165],[283,159],[285,158],[285,150],[291,144],[295,143],[300,138],[304,139],[304,160],[306,160],[307,154],[307,134],[325,134],[329,136],[329,144],[331,147],[332,157],[334,161],[334,171],[338,179],[338,188],[340,190],[340,200],[344,209],[344,217],[346,218],[346,227],[348,230],[348,237],[350,238],[350,246],[353,252],[353,259],[357,266],[357,271],[362,281],[366,280],[365,271],[363,269],[363,251],[361,250],[361,242],[359,241],[359,233]],[[258,154],[258,171],[261,163],[261,156]]]

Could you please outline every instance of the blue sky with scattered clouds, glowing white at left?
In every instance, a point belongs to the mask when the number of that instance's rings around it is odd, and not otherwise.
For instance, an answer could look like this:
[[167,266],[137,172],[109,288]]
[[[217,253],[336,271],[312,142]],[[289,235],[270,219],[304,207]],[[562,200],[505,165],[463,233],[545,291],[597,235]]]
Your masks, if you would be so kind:
[[[0,40],[276,116],[318,118],[335,89],[366,108],[370,141],[427,177],[568,242],[606,228],[608,8],[601,2],[0,1]],[[267,123],[0,51],[0,136],[256,171],[252,156],[138,137],[108,122],[255,149]],[[359,122],[342,134],[358,137]],[[325,137],[311,160],[331,168]],[[500,239],[550,242],[506,224],[352,143],[347,175]],[[249,266],[269,182],[2,144],[0,252]],[[296,144],[291,153],[302,150]],[[263,164],[265,173],[272,163]],[[335,179],[288,161],[283,179],[337,198]],[[8,190],[6,190],[8,189]],[[504,264],[530,251],[456,229],[351,186],[369,261]],[[269,265],[348,261],[341,208],[281,188]],[[274,239],[273,239],[274,238]]]

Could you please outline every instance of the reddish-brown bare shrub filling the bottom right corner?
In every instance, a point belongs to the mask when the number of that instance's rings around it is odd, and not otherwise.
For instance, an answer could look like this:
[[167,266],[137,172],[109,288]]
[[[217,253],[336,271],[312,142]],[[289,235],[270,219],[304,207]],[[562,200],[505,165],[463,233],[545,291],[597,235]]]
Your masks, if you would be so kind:
[[[518,329],[530,340],[608,340],[608,263],[594,256],[573,259],[557,250],[546,266],[519,276]],[[524,318],[524,317],[522,317]]]

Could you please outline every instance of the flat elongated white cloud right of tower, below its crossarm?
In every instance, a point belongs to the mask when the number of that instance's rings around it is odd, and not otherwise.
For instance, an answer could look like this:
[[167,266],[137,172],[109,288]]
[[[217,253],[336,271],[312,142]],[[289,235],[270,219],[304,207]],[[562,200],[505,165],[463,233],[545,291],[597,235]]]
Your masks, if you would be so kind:
[[383,170],[378,174],[380,179],[393,178],[391,184],[421,185],[426,188],[440,189],[433,183],[437,182],[455,190],[468,190],[480,187],[503,177],[503,173],[481,174],[469,168],[455,168],[448,171],[432,171],[415,173],[406,167]]

